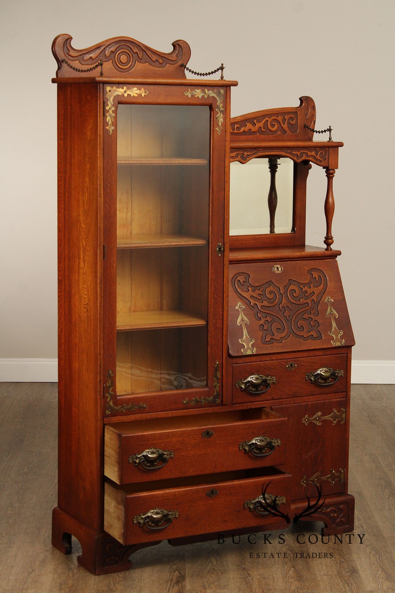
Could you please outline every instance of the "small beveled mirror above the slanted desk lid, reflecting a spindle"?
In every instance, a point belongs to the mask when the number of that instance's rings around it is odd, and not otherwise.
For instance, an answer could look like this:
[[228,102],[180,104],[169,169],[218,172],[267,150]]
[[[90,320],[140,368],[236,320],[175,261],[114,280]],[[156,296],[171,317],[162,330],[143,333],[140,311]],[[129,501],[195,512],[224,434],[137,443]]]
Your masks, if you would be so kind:
[[[270,173],[272,168],[272,173]],[[277,194],[270,231],[269,190]],[[253,158],[230,167],[230,234],[260,235],[291,232],[294,194],[294,163],[289,158]],[[272,204],[273,191],[270,192]],[[272,206],[273,211],[273,206]]]

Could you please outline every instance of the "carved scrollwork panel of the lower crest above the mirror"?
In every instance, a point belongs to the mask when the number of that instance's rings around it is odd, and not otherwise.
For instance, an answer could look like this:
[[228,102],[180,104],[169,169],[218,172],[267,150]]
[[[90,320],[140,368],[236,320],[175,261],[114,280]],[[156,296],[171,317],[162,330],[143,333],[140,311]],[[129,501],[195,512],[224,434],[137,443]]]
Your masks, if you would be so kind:
[[232,134],[260,134],[262,136],[275,136],[281,134],[286,136],[289,133],[297,133],[298,131],[298,113],[291,111],[290,113],[273,113],[270,115],[262,115],[251,117],[250,119],[241,120],[239,122],[231,123]]

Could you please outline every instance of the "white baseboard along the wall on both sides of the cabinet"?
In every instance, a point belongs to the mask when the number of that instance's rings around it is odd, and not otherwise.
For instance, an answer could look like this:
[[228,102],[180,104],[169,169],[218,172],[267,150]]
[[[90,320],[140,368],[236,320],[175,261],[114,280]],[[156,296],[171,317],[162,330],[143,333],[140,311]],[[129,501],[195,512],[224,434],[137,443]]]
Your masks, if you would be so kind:
[[[57,358],[0,358],[0,382],[56,382]],[[353,361],[352,383],[395,384],[395,361]]]

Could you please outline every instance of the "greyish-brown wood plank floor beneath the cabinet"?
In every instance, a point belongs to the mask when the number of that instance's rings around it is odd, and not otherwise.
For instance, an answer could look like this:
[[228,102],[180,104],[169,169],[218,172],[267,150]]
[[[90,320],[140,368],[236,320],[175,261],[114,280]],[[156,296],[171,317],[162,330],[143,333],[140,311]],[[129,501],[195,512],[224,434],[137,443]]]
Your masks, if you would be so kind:
[[[285,531],[286,543],[238,545],[226,540],[174,548],[166,542],[132,556],[134,569],[93,576],[50,545],[56,504],[56,384],[0,384],[0,591],[85,593],[170,591],[275,593],[395,591],[395,388],[352,389],[349,492],[355,496],[355,533],[364,544],[302,546],[298,533],[319,534],[319,524]],[[278,534],[277,534],[278,535]],[[277,542],[276,534],[273,541]],[[355,538],[357,539],[357,538]],[[265,550],[266,548],[266,550]],[[250,552],[274,559],[250,559]],[[277,553],[288,553],[278,559]],[[330,559],[295,559],[294,553],[332,552]]]

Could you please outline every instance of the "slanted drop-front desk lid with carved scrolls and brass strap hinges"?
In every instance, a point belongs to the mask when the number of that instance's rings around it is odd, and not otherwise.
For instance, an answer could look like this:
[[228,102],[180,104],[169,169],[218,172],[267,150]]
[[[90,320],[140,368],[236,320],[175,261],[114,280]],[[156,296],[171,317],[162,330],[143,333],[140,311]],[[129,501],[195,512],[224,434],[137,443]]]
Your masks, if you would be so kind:
[[335,259],[230,265],[231,356],[353,346]]

